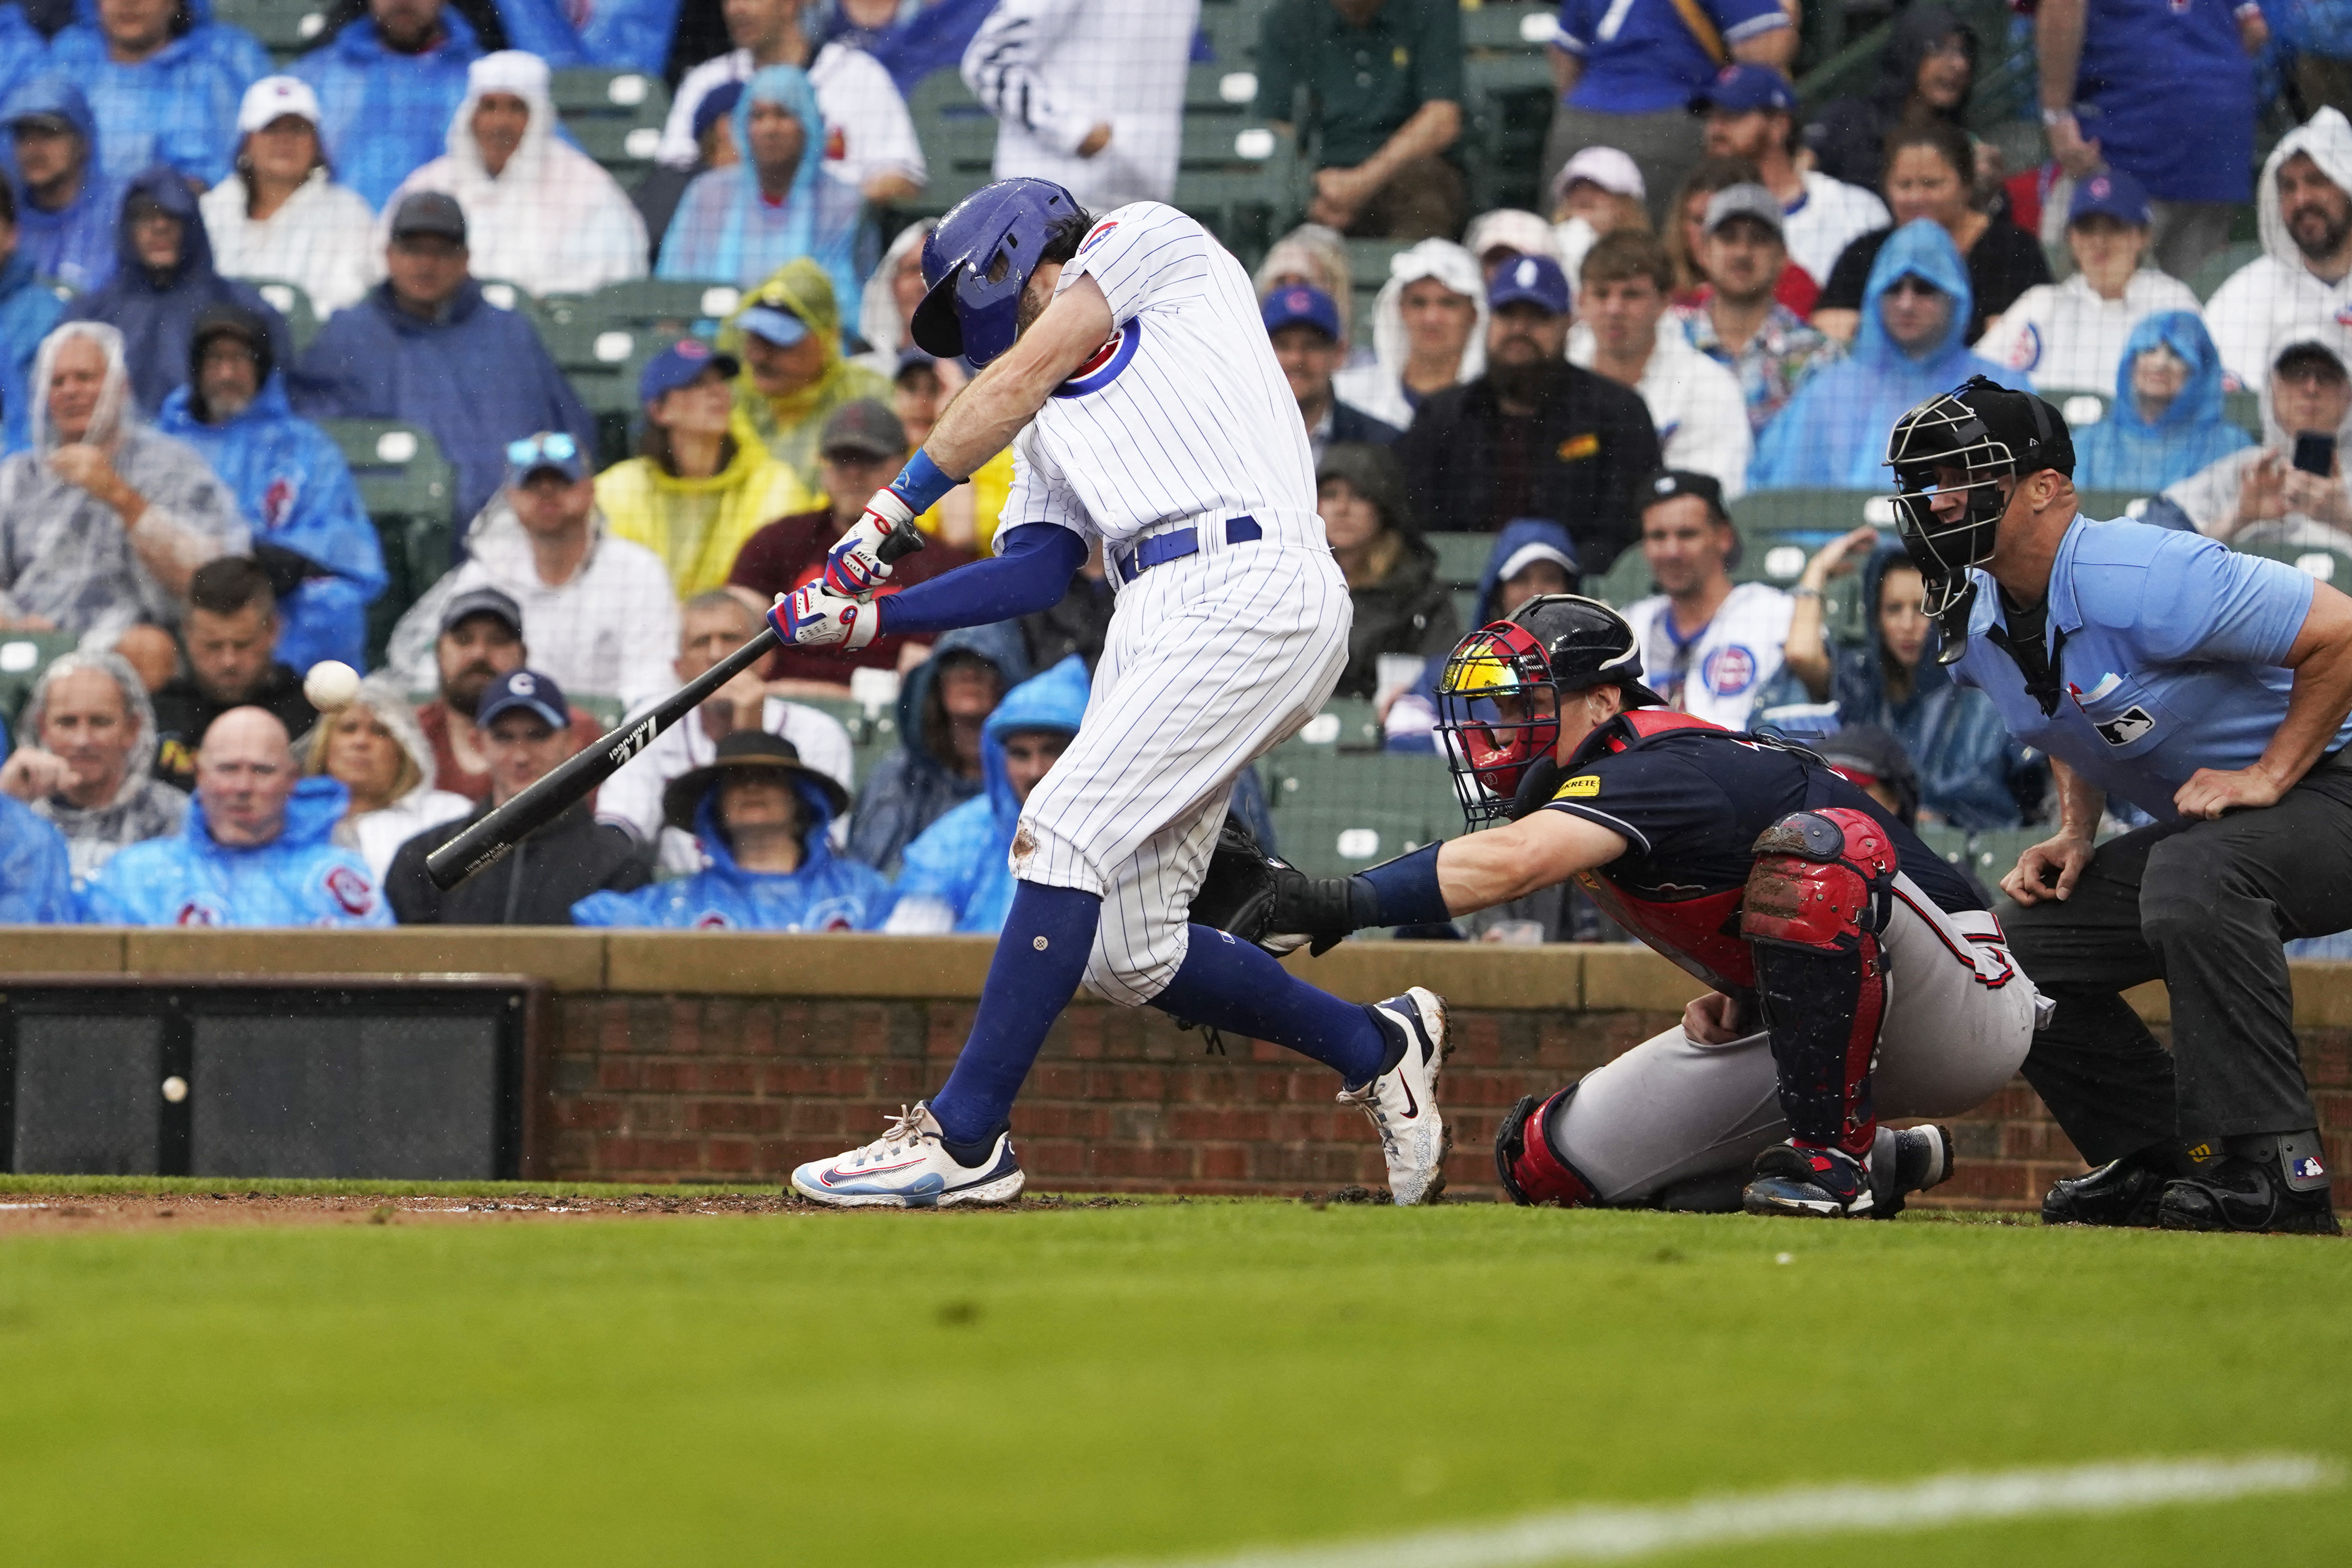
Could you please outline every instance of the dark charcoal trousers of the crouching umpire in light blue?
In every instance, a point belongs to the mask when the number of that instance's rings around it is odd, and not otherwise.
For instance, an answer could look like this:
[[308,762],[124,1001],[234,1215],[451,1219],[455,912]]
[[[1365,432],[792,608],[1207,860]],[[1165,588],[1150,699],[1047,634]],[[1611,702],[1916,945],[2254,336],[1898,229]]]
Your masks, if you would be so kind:
[[[2025,1081],[2086,1161],[2317,1126],[2281,943],[2352,929],[2352,757],[2277,806],[2110,839],[2065,903],[1999,914],[2058,1004]],[[2122,997],[2145,980],[2171,992],[2171,1056]]]

